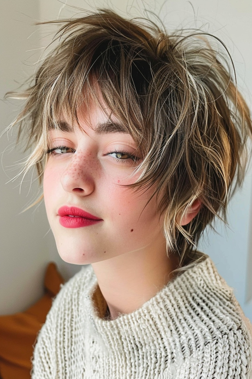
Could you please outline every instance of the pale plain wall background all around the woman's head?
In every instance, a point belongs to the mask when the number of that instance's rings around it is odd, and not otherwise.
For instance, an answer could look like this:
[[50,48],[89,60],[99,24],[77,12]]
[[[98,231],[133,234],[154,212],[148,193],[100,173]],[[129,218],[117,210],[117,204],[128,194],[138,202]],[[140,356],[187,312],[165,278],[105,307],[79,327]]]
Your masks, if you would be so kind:
[[[162,0],[147,3],[111,1],[105,3],[87,2],[83,0],[69,0],[67,5],[57,0],[34,0],[20,3],[4,1],[2,15],[4,25],[1,25],[2,36],[6,36],[1,41],[3,43],[2,57],[6,57],[1,63],[0,69],[4,73],[3,83],[1,83],[2,94],[16,85],[13,78],[22,81],[21,57],[28,57],[31,53],[25,53],[27,49],[34,49],[34,45],[43,46],[49,41],[50,27],[42,27],[40,38],[38,32],[28,40],[26,38],[34,31],[30,27],[36,19],[49,20],[61,17],[71,17],[79,10],[71,8],[95,8],[100,6],[110,7],[114,3],[114,9],[122,15],[127,10],[132,16],[144,15],[144,6],[159,14],[166,27],[170,30],[181,25],[184,27],[201,27],[220,37],[227,45],[232,55],[238,75],[238,86],[245,94],[250,103],[248,88],[252,86],[252,73],[250,70],[252,61],[250,36],[252,34],[252,5],[249,0],[191,0],[192,5],[185,0],[169,0],[161,8]],[[193,10],[194,8],[194,10]],[[26,16],[23,16],[25,14]],[[3,30],[2,30],[3,29]],[[13,31],[12,31],[13,30]],[[41,38],[42,37],[42,38]],[[7,42],[8,41],[8,42]],[[31,57],[30,61],[35,62],[36,58]],[[25,70],[27,70],[25,68]],[[24,76],[24,75],[23,75]],[[25,74],[25,77],[27,75]],[[15,114],[14,105],[0,103],[2,117],[1,127],[6,126]],[[11,113],[11,115],[10,115]],[[0,149],[6,146],[6,141],[0,141]],[[12,152],[6,158],[20,159],[20,153]],[[209,244],[201,241],[201,248],[210,255],[216,267],[227,281],[235,288],[235,295],[241,304],[245,314],[252,321],[251,301],[245,304],[246,290],[246,268],[252,260],[252,249],[249,236],[250,224],[250,194],[251,194],[251,169],[246,177],[242,191],[237,193],[229,206],[230,229],[226,232],[220,223],[217,223],[217,230],[220,236],[209,233]],[[12,173],[11,173],[12,174]],[[14,188],[17,183],[4,185],[8,179],[5,174],[0,173],[1,210],[5,218],[1,220],[1,251],[2,264],[0,266],[0,313],[11,313],[25,308],[39,298],[42,293],[42,280],[45,265],[49,260],[54,260],[59,264],[60,271],[67,279],[79,270],[79,266],[64,263],[56,252],[55,244],[51,232],[46,237],[44,234],[48,230],[43,204],[39,207],[39,212],[29,210],[22,215],[18,215],[26,204],[29,196],[26,197],[28,189],[19,195],[19,189]],[[32,219],[34,218],[34,221]],[[251,271],[248,266],[248,273]],[[248,278],[249,279],[249,278]],[[252,286],[252,283],[250,283]],[[252,288],[251,288],[252,290]]]

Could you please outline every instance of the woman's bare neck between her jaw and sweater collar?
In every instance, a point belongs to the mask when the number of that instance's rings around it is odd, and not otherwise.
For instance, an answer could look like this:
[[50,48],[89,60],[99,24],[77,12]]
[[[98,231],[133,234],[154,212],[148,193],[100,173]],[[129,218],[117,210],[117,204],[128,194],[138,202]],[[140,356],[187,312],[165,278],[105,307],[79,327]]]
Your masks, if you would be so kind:
[[[155,246],[157,248],[157,246]],[[93,263],[100,291],[108,305],[110,319],[120,313],[132,313],[160,291],[179,265],[174,254],[167,257],[165,244],[117,255]]]

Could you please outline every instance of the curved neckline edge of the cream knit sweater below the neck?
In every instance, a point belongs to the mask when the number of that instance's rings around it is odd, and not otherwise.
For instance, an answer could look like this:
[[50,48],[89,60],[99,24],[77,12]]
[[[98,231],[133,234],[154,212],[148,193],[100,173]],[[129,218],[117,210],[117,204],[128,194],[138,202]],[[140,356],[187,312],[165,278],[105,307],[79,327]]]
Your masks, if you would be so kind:
[[[159,290],[152,298],[146,301],[140,308],[131,313],[119,314],[119,316],[113,320],[104,318],[105,311],[107,309],[107,302],[102,296],[97,277],[93,271],[93,267],[90,265],[89,270],[91,281],[90,285],[88,286],[88,291],[85,293],[85,296],[83,298],[83,305],[85,306],[85,309],[88,310],[87,314],[89,315],[92,324],[103,329],[104,327],[117,328],[121,323],[127,324],[128,322],[135,322],[141,318],[142,315],[148,315],[150,308],[155,307],[155,304],[159,304],[164,296],[169,295],[169,292],[172,293],[174,292],[174,289],[179,288],[181,286],[181,281],[184,282],[187,276],[195,275],[195,277],[197,277],[199,280],[199,277],[206,274],[206,271],[209,272],[210,269],[211,273],[209,274],[214,277],[216,269],[211,258],[204,253],[201,253],[200,256],[204,259],[196,263],[196,265],[188,268],[186,271],[178,273],[178,275],[169,280],[169,282],[161,290]],[[205,271],[204,274],[202,274],[203,271]],[[179,296],[179,293],[177,295]],[[174,295],[172,297],[174,297]],[[177,300],[178,299],[175,299],[175,301]]]

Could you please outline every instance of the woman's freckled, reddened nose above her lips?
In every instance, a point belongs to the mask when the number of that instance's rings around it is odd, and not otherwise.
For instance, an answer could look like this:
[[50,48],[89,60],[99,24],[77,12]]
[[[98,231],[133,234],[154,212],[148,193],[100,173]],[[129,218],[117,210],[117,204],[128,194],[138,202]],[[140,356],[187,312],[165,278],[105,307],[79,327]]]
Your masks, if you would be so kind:
[[91,174],[91,160],[87,154],[75,152],[61,176],[61,184],[66,192],[87,196],[94,191],[94,177]]

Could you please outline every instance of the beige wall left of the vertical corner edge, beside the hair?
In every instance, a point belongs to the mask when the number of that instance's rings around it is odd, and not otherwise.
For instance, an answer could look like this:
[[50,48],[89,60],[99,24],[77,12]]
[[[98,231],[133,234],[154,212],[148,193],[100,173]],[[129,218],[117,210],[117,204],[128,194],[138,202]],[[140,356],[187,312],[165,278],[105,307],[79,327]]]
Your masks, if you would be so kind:
[[[22,13],[27,14],[24,16]],[[38,36],[34,34],[29,40],[28,36],[33,29],[30,23],[39,15],[39,4],[27,1],[25,7],[18,1],[1,3],[0,44],[1,44],[1,94],[17,87],[15,81],[22,81],[26,76],[28,67],[21,61],[25,60],[25,50],[35,45]],[[15,80],[15,81],[14,81]],[[4,127],[14,118],[17,106],[0,102],[1,132]],[[13,142],[13,141],[12,141]],[[11,144],[6,136],[0,140],[0,152]],[[3,155],[5,166],[19,160],[21,155],[15,150],[9,150]],[[19,195],[18,183],[5,184],[8,176],[12,177],[13,171],[6,169],[6,174],[0,171],[0,313],[11,313],[21,310],[32,299],[42,294],[40,280],[42,278],[43,254],[47,254],[46,233],[47,226],[41,219],[36,218],[37,224],[32,222],[31,212],[19,215],[23,205],[27,203],[25,191]],[[37,216],[37,215],[36,215]],[[40,235],[37,230],[40,229]]]

